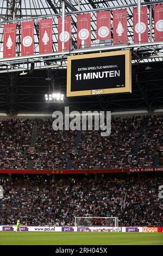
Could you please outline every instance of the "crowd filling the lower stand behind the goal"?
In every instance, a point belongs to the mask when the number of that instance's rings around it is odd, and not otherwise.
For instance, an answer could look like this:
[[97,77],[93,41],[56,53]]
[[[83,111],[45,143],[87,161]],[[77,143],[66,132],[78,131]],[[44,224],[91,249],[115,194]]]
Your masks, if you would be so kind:
[[119,225],[160,226],[161,173],[0,176],[0,225],[74,225],[74,216],[118,217]]

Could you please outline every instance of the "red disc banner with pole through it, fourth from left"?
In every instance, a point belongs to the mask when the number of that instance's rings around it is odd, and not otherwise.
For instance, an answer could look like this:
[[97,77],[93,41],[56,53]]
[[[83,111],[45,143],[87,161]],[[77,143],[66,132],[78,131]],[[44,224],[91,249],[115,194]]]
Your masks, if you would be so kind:
[[[58,18],[58,51],[62,51],[62,17]],[[70,40],[71,40],[71,16],[65,17],[65,31],[64,31],[64,50],[70,50]]]

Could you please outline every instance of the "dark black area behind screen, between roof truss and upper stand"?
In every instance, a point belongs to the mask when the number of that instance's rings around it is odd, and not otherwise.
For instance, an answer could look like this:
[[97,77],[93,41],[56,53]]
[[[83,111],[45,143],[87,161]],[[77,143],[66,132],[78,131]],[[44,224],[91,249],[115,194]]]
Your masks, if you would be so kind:
[[[51,80],[47,81],[47,77]],[[53,90],[66,95],[66,70],[36,70],[28,75],[20,75],[20,72],[0,74],[0,110],[16,113],[48,112],[64,106],[78,111],[160,108],[163,106],[163,65],[162,62],[133,65],[131,94],[65,97],[64,103],[46,103],[45,94]]]

